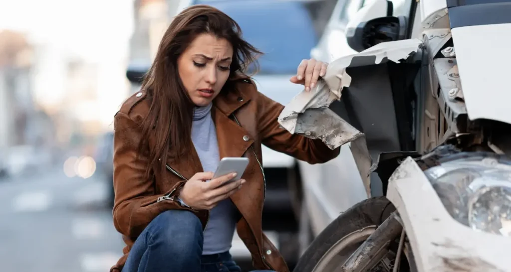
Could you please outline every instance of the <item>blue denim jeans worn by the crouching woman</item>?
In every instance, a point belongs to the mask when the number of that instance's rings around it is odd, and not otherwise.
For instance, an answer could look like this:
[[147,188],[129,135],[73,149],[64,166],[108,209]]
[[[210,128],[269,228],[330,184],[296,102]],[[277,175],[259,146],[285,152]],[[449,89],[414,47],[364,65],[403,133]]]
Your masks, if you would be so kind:
[[162,212],[138,236],[122,272],[241,272],[228,252],[202,256],[202,242],[202,224],[192,212]]

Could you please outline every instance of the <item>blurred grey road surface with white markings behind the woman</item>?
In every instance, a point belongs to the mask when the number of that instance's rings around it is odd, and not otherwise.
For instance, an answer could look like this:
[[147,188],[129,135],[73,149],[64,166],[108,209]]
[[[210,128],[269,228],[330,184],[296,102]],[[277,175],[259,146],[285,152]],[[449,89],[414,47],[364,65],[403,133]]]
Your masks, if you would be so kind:
[[[106,186],[101,175],[67,178],[60,168],[0,180],[0,271],[108,271],[124,242],[105,205]],[[238,237],[231,254],[249,263]]]

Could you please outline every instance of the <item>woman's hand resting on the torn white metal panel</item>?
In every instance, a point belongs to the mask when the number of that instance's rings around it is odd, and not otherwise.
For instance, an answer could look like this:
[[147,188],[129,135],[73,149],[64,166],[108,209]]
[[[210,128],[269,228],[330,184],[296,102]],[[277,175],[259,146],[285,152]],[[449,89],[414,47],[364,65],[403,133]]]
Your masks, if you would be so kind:
[[328,63],[324,63],[315,59],[303,60],[298,65],[298,71],[296,76],[291,77],[289,81],[296,84],[305,86],[306,91],[310,91],[316,83],[319,77],[323,77],[327,72]]

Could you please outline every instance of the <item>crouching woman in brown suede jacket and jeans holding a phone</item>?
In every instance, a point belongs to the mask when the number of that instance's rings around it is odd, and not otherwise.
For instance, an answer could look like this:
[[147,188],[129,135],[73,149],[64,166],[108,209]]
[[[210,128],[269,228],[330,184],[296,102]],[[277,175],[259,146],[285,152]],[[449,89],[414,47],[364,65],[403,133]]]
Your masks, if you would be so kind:
[[[142,90],[115,114],[113,220],[127,246],[112,271],[240,271],[229,255],[235,228],[256,268],[289,271],[261,229],[261,144],[309,163],[339,149],[280,128],[284,107],[244,73],[259,54],[215,8],[172,21]],[[291,81],[310,90],[326,67],[304,60]],[[241,180],[212,179],[220,158],[242,156]]]

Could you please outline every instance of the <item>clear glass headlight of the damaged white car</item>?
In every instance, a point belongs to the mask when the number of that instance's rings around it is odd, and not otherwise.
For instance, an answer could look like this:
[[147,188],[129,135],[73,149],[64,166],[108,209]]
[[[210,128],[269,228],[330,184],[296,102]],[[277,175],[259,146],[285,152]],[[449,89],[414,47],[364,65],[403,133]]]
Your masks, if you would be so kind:
[[511,236],[511,161],[474,156],[424,172],[458,222],[474,230]]

